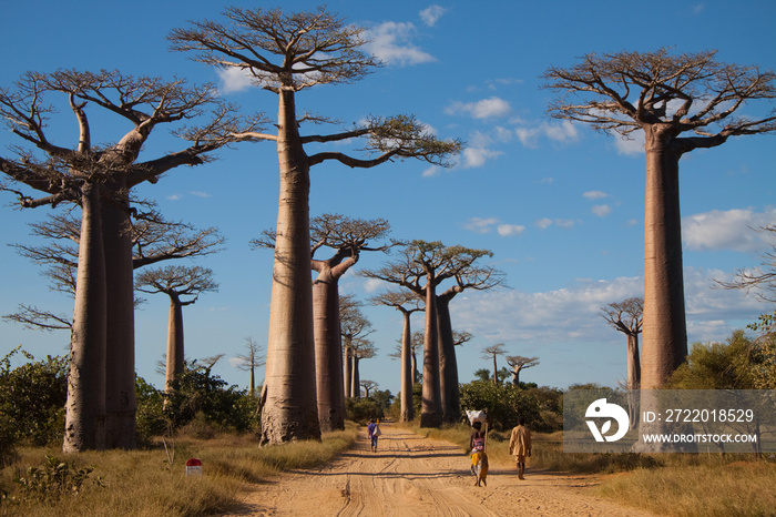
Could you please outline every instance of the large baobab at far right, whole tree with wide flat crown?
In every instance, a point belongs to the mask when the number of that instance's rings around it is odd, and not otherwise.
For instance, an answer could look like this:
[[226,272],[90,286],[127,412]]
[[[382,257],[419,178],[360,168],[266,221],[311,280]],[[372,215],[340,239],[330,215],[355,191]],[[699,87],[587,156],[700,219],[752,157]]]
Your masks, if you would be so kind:
[[[588,54],[571,68],[548,69],[545,88],[560,95],[553,118],[630,138],[646,152],[644,336],[642,388],[663,386],[687,355],[682,272],[680,159],[731,136],[776,130],[776,113],[752,115],[749,101],[776,97],[776,75],[727,64],[716,51]],[[747,115],[738,115],[746,107]]]

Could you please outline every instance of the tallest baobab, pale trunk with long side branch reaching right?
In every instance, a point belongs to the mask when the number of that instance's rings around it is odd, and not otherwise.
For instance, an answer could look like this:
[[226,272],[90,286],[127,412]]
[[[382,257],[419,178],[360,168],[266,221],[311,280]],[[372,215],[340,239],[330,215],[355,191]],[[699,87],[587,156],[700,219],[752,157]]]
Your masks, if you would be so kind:
[[[244,132],[252,141],[277,144],[280,199],[273,265],[267,342],[267,377],[262,412],[262,442],[319,438],[313,349],[313,298],[309,290],[309,171],[325,162],[374,168],[394,160],[417,158],[448,165],[459,152],[458,141],[433,136],[415,116],[369,116],[356,128],[331,134],[300,133],[305,122],[330,122],[299,115],[296,94],[324,84],[353,83],[380,62],[361,51],[364,29],[345,23],[324,8],[315,12],[227,8],[227,24],[192,22],[171,36],[173,50],[194,52],[194,59],[248,74],[253,83],[278,99],[276,133]],[[307,154],[307,144],[364,139],[369,155],[339,150]]]

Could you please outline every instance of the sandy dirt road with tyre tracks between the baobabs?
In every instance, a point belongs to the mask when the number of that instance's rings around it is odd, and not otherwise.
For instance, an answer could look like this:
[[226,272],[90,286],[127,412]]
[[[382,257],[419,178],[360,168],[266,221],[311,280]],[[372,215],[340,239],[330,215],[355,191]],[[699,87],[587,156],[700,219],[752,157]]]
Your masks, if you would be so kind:
[[[377,453],[366,434],[326,467],[296,470],[262,485],[229,515],[243,516],[651,516],[591,494],[586,476],[491,466],[473,486],[460,447],[381,424]],[[530,465],[530,464],[529,464]]]

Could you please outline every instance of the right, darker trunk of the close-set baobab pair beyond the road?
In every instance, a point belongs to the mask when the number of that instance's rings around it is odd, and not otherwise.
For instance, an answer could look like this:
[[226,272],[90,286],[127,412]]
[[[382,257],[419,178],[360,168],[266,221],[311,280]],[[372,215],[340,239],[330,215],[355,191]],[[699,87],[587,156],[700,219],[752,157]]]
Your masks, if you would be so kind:
[[456,423],[461,418],[461,395],[458,387],[456,343],[450,322],[450,300],[451,297],[448,296],[437,297],[439,389],[442,396],[442,420],[446,424]]

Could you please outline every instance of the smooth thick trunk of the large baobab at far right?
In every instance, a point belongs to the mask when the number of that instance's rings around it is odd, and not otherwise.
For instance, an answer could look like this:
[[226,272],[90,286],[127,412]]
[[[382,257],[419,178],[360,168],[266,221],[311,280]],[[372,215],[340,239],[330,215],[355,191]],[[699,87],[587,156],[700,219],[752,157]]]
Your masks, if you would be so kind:
[[680,153],[646,131],[642,382],[660,388],[687,355],[680,214]]

